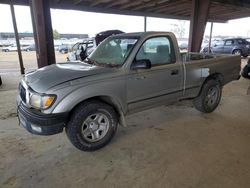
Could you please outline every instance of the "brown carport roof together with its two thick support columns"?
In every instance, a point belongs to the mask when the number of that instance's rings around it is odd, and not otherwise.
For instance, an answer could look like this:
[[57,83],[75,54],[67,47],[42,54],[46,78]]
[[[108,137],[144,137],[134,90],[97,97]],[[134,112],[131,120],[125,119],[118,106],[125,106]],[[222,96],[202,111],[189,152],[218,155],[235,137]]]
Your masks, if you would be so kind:
[[200,50],[207,21],[227,22],[250,16],[248,0],[0,0],[0,3],[30,6],[38,67],[55,63],[50,8],[190,20],[192,52]]

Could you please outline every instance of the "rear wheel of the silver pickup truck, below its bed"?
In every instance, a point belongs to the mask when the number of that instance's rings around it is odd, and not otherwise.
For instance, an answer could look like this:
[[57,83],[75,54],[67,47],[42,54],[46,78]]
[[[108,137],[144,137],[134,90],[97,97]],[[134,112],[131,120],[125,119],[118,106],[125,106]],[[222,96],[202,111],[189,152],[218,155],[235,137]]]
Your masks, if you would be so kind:
[[207,80],[200,94],[193,100],[195,108],[204,113],[213,112],[220,103],[222,86],[215,79]]

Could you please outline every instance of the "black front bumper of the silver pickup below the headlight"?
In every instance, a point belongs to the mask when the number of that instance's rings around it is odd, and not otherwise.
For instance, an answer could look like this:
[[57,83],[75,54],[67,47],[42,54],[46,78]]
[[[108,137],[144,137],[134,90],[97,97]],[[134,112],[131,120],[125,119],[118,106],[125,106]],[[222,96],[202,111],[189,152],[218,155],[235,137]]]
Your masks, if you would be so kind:
[[37,135],[53,135],[63,131],[68,113],[43,114],[27,108],[22,103],[17,108],[19,124],[27,131]]

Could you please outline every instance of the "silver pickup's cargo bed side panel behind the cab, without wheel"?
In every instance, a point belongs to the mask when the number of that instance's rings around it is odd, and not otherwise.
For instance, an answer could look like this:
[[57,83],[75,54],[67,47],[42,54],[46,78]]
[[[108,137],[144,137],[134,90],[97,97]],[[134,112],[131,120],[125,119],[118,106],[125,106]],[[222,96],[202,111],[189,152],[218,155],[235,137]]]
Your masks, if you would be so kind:
[[240,56],[225,54],[182,53],[184,65],[183,98],[193,98],[200,91],[203,82],[212,75],[219,74],[222,85],[237,80],[241,70]]

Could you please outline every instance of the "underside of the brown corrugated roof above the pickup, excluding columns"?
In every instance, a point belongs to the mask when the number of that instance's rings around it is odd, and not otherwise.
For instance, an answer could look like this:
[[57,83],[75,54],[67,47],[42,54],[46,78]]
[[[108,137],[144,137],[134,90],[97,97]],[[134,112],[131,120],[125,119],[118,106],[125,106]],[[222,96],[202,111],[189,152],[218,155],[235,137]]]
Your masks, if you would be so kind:
[[[12,0],[28,5],[29,0]],[[9,0],[0,0],[9,4]],[[50,0],[51,8],[90,12],[190,19],[192,0]],[[208,20],[226,22],[250,17],[249,0],[211,0]]]

